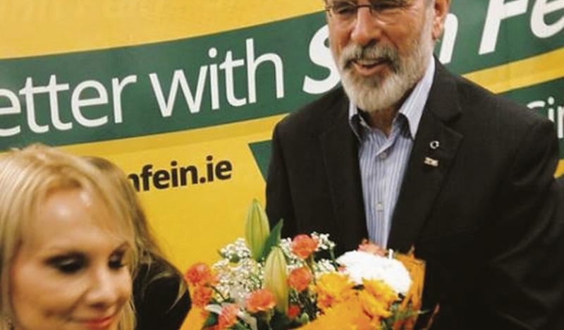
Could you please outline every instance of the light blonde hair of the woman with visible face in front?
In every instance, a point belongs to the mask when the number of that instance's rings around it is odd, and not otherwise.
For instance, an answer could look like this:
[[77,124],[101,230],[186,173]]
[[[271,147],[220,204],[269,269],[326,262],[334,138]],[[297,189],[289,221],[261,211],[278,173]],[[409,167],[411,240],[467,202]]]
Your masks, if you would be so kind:
[[[80,157],[44,145],[14,149],[0,157],[0,330],[13,319],[10,267],[22,243],[25,227],[54,190],[80,188],[99,198],[115,215],[115,224],[132,247],[130,271],[137,265],[135,231],[124,200],[114,181]],[[133,330],[135,313],[130,301],[118,322],[119,330]]]

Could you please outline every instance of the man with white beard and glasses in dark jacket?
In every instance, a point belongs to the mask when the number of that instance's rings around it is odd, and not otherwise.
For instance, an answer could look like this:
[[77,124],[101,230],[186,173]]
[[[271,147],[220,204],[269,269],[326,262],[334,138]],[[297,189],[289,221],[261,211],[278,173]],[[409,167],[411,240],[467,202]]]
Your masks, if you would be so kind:
[[434,59],[450,0],[326,0],[342,87],[274,130],[283,236],[427,263],[417,328],[564,329],[553,124]]

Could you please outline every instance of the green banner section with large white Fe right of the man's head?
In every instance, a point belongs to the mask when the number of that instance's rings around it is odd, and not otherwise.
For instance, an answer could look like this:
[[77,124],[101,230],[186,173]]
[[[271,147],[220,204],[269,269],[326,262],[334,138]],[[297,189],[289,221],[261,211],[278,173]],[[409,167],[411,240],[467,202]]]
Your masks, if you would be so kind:
[[564,46],[563,1],[451,1],[450,11],[442,40],[446,53],[454,49],[449,68],[458,73]]

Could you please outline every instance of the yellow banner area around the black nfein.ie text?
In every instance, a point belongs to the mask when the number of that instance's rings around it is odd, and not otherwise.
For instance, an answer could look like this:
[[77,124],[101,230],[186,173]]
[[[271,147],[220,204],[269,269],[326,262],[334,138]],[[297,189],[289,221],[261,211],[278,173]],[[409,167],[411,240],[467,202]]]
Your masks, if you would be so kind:
[[243,236],[247,207],[253,198],[264,204],[264,179],[248,144],[271,138],[281,116],[233,123],[214,128],[152,135],[109,142],[63,147],[74,154],[106,157],[126,173],[139,173],[145,164],[168,169],[196,164],[205,157],[233,164],[232,178],[204,185],[186,185],[140,193],[147,216],[168,257],[181,269],[198,261],[217,259],[217,250]]

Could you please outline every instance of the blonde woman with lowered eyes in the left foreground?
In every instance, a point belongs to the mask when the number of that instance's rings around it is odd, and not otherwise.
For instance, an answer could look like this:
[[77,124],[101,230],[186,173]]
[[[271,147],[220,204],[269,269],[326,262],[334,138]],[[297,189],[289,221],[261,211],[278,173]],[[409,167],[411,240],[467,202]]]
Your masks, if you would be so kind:
[[0,330],[132,330],[128,202],[92,164],[33,145],[0,157]]

